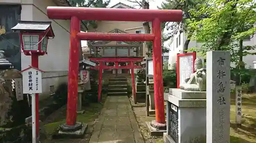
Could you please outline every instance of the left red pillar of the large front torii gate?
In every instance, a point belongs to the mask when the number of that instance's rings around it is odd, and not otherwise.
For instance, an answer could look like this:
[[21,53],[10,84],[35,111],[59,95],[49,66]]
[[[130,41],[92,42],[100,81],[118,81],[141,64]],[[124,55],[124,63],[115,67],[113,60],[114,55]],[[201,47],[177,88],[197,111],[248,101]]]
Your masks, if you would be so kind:
[[69,83],[66,120],[67,125],[75,125],[76,123],[80,46],[80,40],[76,38],[76,34],[78,32],[80,32],[80,20],[73,16],[70,20]]

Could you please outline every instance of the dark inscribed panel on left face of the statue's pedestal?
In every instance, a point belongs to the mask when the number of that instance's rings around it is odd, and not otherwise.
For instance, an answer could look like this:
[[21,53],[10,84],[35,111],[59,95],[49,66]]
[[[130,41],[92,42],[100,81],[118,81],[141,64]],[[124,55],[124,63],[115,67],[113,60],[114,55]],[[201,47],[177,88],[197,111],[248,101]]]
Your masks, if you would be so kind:
[[178,142],[178,107],[172,103],[169,106],[169,131],[170,136],[175,142]]

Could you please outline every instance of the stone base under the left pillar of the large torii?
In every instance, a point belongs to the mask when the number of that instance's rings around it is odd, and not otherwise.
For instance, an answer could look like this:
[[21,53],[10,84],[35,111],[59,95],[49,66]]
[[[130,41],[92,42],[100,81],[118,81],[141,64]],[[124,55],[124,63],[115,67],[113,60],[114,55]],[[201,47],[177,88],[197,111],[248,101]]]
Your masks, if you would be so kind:
[[82,138],[88,128],[88,124],[82,124],[81,129],[74,131],[59,130],[53,138]]

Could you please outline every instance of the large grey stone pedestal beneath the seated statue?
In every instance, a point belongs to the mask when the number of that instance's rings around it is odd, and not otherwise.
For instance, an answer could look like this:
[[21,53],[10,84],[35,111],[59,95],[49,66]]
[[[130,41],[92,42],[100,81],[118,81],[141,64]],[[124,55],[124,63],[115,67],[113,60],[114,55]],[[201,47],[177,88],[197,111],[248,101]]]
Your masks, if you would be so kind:
[[206,143],[206,92],[169,89],[166,143]]

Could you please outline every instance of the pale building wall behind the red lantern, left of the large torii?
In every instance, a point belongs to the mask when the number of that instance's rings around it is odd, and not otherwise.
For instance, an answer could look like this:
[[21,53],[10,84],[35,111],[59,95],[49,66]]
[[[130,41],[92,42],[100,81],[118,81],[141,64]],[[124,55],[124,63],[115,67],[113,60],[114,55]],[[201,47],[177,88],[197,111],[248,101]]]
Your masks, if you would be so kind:
[[[46,71],[42,74],[43,93],[40,95],[40,98],[44,99],[49,96],[51,85],[54,85],[56,90],[60,83],[68,82],[70,21],[50,20],[47,17],[46,8],[56,6],[52,0],[22,0],[21,3],[21,20],[52,21],[55,38],[48,41],[48,54],[39,57],[39,69]],[[22,69],[31,64],[31,56],[22,53],[21,59]]]

